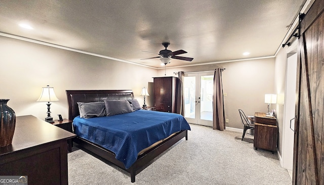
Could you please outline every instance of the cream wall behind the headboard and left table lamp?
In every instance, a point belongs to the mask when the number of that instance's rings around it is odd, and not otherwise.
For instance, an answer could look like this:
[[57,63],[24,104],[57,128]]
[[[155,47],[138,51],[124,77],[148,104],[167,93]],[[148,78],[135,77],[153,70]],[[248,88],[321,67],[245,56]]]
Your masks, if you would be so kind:
[[[41,119],[47,116],[47,105],[36,100],[46,85],[54,87],[60,100],[52,102],[52,117],[57,119],[57,114],[62,114],[67,118],[66,89],[132,89],[142,104],[141,88],[147,87],[157,73],[156,69],[3,36],[0,56],[0,99],[10,99],[8,106],[17,116]],[[147,104],[150,99],[147,97]]]

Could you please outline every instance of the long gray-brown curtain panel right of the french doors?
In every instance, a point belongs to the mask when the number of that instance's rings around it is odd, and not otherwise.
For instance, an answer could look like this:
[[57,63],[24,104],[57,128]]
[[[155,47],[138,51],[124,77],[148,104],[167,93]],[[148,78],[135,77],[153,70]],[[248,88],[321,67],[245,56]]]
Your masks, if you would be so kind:
[[221,131],[225,129],[222,71],[220,68],[215,69],[213,87],[213,129]]

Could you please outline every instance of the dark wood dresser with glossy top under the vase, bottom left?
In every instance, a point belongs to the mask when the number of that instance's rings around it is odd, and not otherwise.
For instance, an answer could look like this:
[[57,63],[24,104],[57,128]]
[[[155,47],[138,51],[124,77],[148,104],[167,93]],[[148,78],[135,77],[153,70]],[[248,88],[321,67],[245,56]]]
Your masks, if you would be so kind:
[[12,145],[0,148],[0,175],[27,175],[28,184],[68,184],[67,140],[73,137],[34,116],[17,116]]

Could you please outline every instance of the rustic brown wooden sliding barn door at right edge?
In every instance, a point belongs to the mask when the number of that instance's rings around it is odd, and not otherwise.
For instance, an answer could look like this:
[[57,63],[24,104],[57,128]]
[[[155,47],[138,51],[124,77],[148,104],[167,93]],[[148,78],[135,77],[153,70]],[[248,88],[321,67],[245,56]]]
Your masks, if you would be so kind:
[[324,184],[324,0],[301,22],[293,184]]

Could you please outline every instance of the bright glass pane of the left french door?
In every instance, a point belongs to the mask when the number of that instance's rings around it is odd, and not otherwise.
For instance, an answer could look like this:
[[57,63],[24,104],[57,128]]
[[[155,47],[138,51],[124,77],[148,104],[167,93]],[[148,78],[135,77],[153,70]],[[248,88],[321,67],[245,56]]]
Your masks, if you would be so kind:
[[184,117],[195,118],[196,77],[184,77]]

